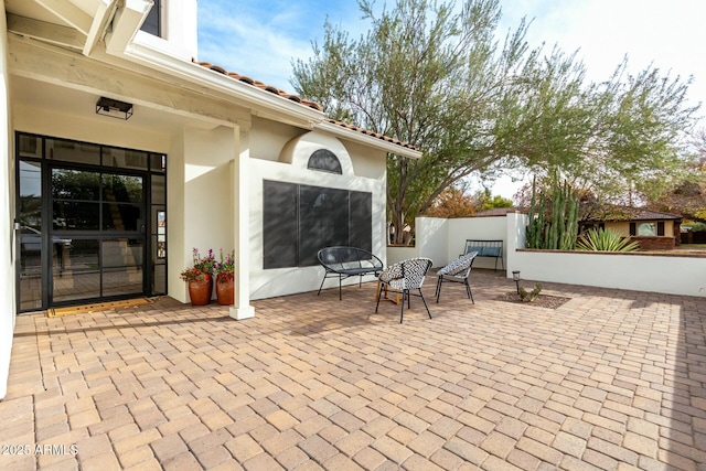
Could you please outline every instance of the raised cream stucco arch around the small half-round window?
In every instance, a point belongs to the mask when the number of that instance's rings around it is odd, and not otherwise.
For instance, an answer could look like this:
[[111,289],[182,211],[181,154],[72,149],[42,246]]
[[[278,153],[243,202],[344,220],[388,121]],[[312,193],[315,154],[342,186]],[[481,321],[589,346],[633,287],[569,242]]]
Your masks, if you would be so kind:
[[319,149],[330,150],[335,154],[341,163],[342,176],[354,175],[351,156],[345,149],[345,146],[343,146],[339,139],[319,131],[309,131],[306,135],[296,137],[287,142],[282,148],[282,151],[279,153],[279,161],[291,163],[296,169],[301,169],[308,172],[315,171],[307,169],[307,164],[309,163],[311,154]]

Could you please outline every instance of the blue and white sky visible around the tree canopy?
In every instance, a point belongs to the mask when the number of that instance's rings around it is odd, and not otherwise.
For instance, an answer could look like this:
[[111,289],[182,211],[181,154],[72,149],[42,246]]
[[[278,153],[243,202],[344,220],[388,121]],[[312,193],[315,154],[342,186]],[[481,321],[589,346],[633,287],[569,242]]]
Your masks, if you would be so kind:
[[[706,1],[500,0],[500,6],[499,38],[524,17],[532,21],[530,45],[577,52],[588,81],[608,79],[625,56],[632,74],[652,65],[662,75],[691,76],[687,100],[703,104],[698,116],[706,127]],[[311,43],[321,43],[327,19],[351,38],[370,26],[355,0],[199,0],[197,14],[200,61],[287,92],[293,92],[292,60],[312,55]],[[511,197],[515,186],[501,179],[493,192]]]

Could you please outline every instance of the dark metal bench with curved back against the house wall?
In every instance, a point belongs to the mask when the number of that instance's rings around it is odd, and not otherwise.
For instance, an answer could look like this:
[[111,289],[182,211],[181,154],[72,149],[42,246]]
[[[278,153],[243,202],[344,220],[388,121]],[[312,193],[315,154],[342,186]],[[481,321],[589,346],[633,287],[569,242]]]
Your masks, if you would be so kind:
[[383,271],[383,263],[367,250],[357,247],[325,247],[317,254],[319,263],[325,269],[319,292],[323,288],[327,278],[339,278],[339,299],[341,299],[341,283],[350,277],[360,277],[359,286],[363,283],[364,275],[379,275]]

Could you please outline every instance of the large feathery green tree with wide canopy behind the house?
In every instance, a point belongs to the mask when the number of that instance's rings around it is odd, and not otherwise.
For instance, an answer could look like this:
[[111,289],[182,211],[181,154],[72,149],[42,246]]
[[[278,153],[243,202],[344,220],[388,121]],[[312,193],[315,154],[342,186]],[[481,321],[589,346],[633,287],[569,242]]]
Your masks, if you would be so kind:
[[[557,173],[598,199],[678,167],[680,132],[693,124],[691,81],[623,61],[606,82],[586,84],[585,66],[558,47],[530,49],[523,21],[496,38],[496,0],[397,0],[377,15],[359,0],[371,30],[351,39],[324,24],[313,56],[297,61],[292,85],[330,117],[422,150],[391,154],[387,208],[395,234],[446,189],[471,173],[524,167]],[[402,243],[402,239],[395,240]]]

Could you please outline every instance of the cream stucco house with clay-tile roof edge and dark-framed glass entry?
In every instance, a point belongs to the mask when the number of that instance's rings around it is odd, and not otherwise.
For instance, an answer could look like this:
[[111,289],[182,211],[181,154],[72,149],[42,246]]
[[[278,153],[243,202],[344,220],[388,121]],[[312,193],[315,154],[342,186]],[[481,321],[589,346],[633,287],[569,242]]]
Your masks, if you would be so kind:
[[17,315],[188,302],[194,247],[235,250],[236,319],[317,289],[318,245],[385,256],[386,156],[419,151],[196,62],[196,0],[0,8],[0,398]]

